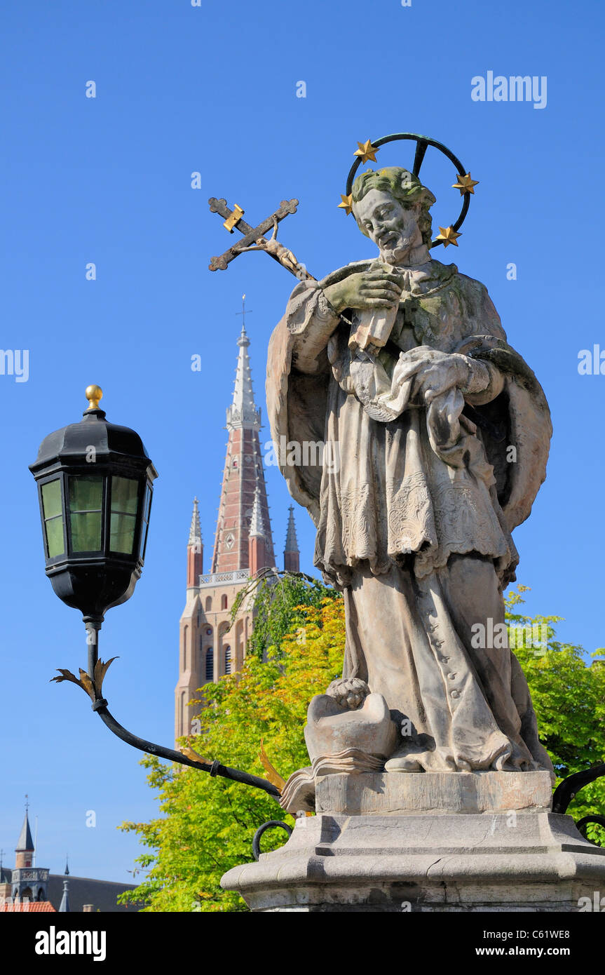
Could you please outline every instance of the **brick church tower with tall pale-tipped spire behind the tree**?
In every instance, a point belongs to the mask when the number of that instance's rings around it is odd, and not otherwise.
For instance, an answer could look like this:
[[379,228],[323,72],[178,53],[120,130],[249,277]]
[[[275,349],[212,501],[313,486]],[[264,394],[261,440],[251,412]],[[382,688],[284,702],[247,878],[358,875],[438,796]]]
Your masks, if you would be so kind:
[[[233,401],[227,409],[227,455],[214,536],[212,562],[204,574],[204,546],[197,498],[187,544],[187,601],[180,618],[178,683],[174,736],[191,733],[195,712],[188,701],[197,689],[239,670],[252,632],[251,606],[243,605],[233,626],[231,609],[250,576],[276,565],[267,487],[248,358],[246,328],[238,338],[239,355]],[[284,565],[298,569],[298,545],[290,508]]]

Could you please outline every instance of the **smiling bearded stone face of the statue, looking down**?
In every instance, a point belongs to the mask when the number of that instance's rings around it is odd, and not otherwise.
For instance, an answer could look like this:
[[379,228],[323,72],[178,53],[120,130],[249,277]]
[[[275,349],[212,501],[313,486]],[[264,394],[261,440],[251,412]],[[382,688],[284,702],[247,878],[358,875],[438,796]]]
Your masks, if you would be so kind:
[[419,203],[400,203],[390,193],[371,189],[355,204],[359,226],[389,264],[404,264],[410,252],[422,244],[418,227]]

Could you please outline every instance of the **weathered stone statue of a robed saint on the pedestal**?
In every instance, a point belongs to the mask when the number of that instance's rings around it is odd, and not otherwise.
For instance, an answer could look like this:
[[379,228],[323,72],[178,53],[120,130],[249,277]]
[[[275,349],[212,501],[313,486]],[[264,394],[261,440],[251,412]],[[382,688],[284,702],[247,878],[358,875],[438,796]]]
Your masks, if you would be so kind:
[[[431,257],[434,203],[398,167],[356,178],[379,254],[292,292],[269,347],[272,436],[302,447],[280,465],[344,594],[343,678],[401,728],[386,770],[552,773],[514,654],[486,645],[546,476],[548,404],[485,287]],[[330,463],[305,452],[318,442]]]

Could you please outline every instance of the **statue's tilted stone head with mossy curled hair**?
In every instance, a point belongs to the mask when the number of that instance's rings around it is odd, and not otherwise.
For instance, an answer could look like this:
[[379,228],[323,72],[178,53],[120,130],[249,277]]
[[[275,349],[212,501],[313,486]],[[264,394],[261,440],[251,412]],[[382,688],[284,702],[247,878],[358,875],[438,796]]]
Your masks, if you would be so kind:
[[398,166],[368,170],[353,183],[353,213],[359,230],[391,264],[431,243],[430,208],[435,197],[418,176]]

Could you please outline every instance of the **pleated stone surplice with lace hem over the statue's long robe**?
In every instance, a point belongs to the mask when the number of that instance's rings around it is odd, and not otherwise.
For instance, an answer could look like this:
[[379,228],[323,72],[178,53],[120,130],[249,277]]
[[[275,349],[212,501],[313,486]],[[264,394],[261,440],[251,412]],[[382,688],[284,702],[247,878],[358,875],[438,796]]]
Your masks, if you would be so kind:
[[[450,390],[438,398],[433,423],[431,409],[409,402],[410,377],[435,350],[416,348],[401,356],[404,369],[398,377],[394,371],[393,386],[386,373],[372,382],[375,363],[367,357],[359,391],[343,345],[342,337],[332,340],[328,353],[338,384],[329,393],[327,439],[355,448],[341,451],[338,471],[323,472],[316,565],[339,585],[348,584],[350,569],[363,560],[382,574],[410,554],[418,577],[446,565],[453,553],[477,552],[506,570],[516,550],[501,517],[493,469],[476,427],[461,414],[462,394]],[[373,397],[372,407],[365,409],[359,396]],[[385,402],[395,417],[386,422],[372,416],[373,407],[383,409]],[[443,409],[448,424],[438,422]]]

